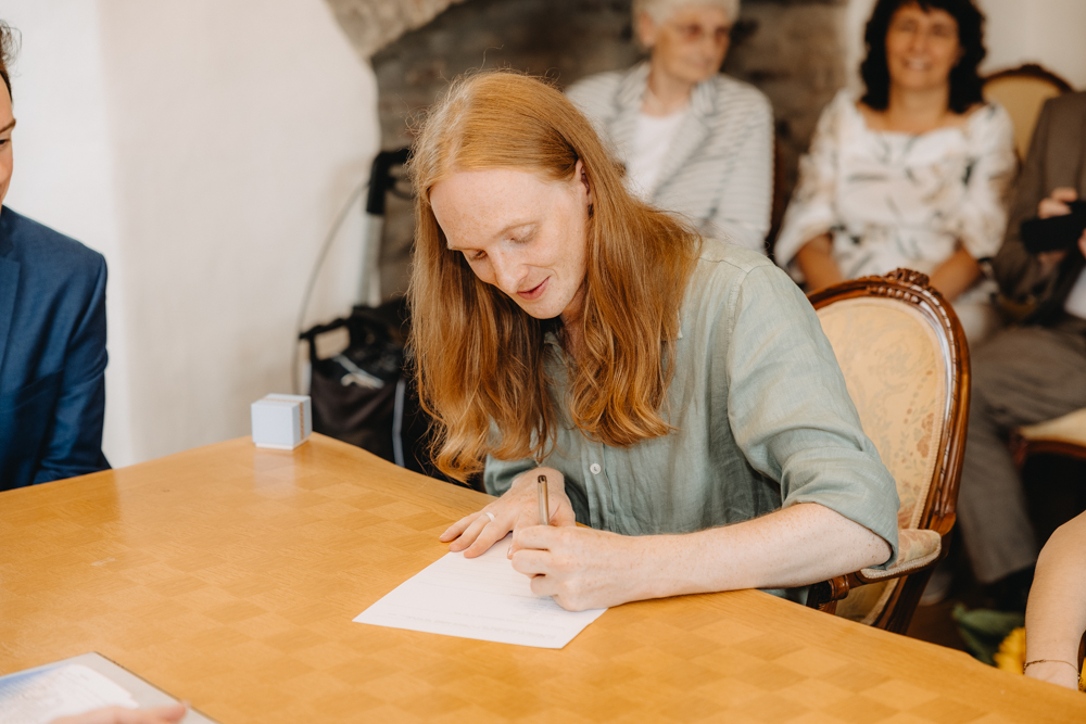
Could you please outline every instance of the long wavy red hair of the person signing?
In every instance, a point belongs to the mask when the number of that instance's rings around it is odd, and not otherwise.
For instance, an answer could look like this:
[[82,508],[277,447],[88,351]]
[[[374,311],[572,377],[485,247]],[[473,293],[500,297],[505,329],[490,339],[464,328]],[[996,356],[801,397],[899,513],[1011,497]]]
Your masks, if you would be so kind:
[[[548,180],[582,163],[593,191],[588,223],[583,353],[554,399],[535,319],[476,277],[446,247],[429,192],[457,170],[513,168]],[[455,81],[426,119],[408,163],[416,240],[408,300],[409,350],[422,406],[437,423],[438,467],[464,480],[485,456],[546,456],[555,406],[591,440],[624,447],[671,431],[660,407],[674,367],[679,307],[700,249],[689,225],[633,199],[595,131],[569,100],[509,72]]]

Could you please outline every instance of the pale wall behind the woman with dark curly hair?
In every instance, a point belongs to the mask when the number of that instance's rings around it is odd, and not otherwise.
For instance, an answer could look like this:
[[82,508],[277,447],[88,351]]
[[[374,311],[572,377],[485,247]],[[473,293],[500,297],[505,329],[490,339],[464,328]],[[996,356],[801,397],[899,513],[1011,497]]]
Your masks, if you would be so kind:
[[[975,0],[987,17],[983,73],[1039,63],[1086,89],[1086,0]],[[854,84],[863,60],[863,26],[875,0],[849,0],[846,53]]]

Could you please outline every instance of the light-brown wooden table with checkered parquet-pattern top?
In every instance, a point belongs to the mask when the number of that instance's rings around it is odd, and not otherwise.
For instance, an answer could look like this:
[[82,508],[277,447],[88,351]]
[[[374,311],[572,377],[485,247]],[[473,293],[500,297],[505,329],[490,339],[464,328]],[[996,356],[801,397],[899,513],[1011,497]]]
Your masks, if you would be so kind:
[[351,621],[487,499],[314,435],[0,494],[0,673],[96,650],[224,724],[1086,720],[1086,697],[759,592],[611,609],[563,650]]

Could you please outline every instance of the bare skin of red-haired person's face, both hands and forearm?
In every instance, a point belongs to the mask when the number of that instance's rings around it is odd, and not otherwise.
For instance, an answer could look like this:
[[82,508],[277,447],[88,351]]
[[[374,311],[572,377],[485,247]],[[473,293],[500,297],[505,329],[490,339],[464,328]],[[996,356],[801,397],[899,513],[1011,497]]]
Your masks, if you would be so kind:
[[[561,316],[567,331],[584,303],[591,203],[580,164],[571,179],[560,181],[512,169],[455,172],[430,191],[450,247],[464,254],[475,274],[533,317]],[[576,339],[572,345],[576,355]],[[539,474],[547,477],[551,525],[539,525]],[[805,585],[882,563],[891,552],[868,529],[817,504],[685,535],[577,528],[565,478],[553,468],[519,475],[505,495],[440,539],[473,558],[510,532],[514,568],[532,579],[533,592],[569,610]]]

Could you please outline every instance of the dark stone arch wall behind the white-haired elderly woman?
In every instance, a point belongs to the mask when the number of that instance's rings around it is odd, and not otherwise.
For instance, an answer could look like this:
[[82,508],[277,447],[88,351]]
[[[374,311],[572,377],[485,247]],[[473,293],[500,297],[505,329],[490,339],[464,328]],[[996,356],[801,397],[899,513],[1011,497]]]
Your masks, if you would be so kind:
[[[409,123],[456,75],[513,67],[560,86],[641,58],[630,0],[327,0],[377,74],[382,148],[411,143]],[[394,8],[393,8],[394,5]],[[787,199],[821,109],[847,82],[848,0],[744,0],[724,72],[773,103]],[[397,28],[403,28],[395,36]],[[413,28],[413,29],[408,29]],[[381,287],[406,289],[409,203],[390,199]]]

